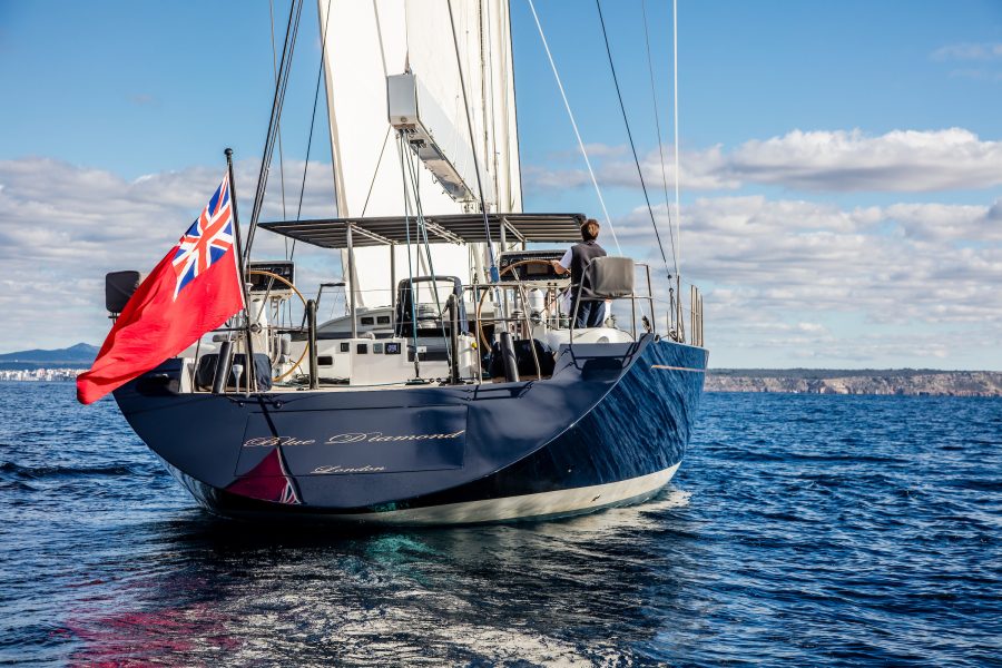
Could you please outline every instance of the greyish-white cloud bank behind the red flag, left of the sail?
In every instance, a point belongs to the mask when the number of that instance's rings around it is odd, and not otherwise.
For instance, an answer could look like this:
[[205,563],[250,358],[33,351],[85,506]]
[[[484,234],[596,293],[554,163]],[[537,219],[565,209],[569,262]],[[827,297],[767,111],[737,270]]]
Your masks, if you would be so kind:
[[[302,175],[302,163],[293,168]],[[108,328],[105,274],[155,266],[222,176],[196,167],[127,181],[43,158],[0,161],[0,313],[18,325],[4,327],[0,351],[100,343]],[[239,164],[236,179],[245,185],[237,191],[252,194],[256,176],[256,164]],[[330,179],[330,165],[311,166],[305,217],[331,214]],[[298,194],[297,187],[291,190]],[[263,219],[281,217],[279,198],[271,202]],[[249,217],[249,212],[250,202],[242,199],[240,213]],[[294,217],[295,202],[289,212]],[[257,235],[256,244],[284,256],[284,240],[276,235]],[[297,250],[301,255],[308,267],[311,259]]]

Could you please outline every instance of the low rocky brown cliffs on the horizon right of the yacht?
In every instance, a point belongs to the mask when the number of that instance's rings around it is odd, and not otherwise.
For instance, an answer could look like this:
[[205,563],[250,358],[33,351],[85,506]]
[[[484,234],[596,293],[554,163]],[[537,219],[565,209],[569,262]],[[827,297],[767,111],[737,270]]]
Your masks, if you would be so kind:
[[707,392],[1002,396],[1002,372],[932,369],[711,369]]

